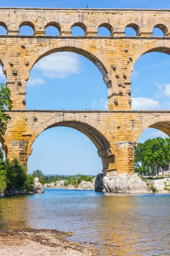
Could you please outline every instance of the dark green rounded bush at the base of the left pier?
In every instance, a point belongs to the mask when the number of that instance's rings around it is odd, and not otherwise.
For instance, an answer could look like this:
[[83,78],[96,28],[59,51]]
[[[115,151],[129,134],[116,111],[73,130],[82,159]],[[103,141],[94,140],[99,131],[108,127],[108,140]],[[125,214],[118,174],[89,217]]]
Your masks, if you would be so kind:
[[17,189],[23,188],[27,175],[24,166],[20,164],[17,157],[14,157],[12,161],[6,161],[6,173],[8,189],[12,186]]

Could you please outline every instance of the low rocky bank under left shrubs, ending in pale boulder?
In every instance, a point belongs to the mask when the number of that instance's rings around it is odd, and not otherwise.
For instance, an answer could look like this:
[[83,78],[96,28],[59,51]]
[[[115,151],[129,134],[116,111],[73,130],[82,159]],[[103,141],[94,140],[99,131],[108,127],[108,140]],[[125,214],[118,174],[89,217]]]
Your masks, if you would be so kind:
[[6,195],[22,195],[22,194],[33,194],[33,193],[44,193],[42,184],[38,178],[34,178],[34,189],[33,191],[26,191],[24,189],[16,189],[14,186],[10,190],[5,190],[3,193],[0,193],[0,198],[3,198]]

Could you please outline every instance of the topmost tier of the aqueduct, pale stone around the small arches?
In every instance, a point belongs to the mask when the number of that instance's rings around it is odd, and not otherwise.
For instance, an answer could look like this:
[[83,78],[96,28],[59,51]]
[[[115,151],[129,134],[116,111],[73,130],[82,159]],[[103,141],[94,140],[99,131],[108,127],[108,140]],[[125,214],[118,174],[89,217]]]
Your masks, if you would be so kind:
[[71,28],[81,27],[85,35],[97,35],[106,27],[111,35],[124,36],[125,27],[135,29],[138,36],[152,35],[153,27],[169,36],[169,9],[68,9],[68,8],[0,8],[0,24],[8,35],[18,35],[21,26],[34,29],[34,35],[45,35],[45,28],[55,26],[60,35],[71,35]]

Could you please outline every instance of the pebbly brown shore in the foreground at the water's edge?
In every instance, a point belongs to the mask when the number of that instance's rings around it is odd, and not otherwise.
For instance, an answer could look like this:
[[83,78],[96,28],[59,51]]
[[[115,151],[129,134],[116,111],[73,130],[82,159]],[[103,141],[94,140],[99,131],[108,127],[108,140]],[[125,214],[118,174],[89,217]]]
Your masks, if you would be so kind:
[[71,233],[57,230],[0,230],[0,255],[3,256],[95,256],[91,247],[66,240]]

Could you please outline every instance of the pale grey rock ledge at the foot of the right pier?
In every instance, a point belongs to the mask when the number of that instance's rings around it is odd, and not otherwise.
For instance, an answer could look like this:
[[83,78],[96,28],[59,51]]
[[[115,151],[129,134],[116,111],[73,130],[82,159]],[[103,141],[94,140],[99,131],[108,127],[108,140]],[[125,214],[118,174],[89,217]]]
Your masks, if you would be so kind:
[[[141,178],[134,175],[119,175],[114,180],[109,180],[103,174],[96,177],[95,191],[100,192],[119,192],[119,193],[167,193],[165,190],[170,186],[170,178],[155,178],[148,177]],[[169,187],[170,188],[170,187]]]

